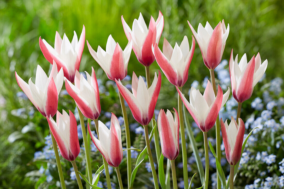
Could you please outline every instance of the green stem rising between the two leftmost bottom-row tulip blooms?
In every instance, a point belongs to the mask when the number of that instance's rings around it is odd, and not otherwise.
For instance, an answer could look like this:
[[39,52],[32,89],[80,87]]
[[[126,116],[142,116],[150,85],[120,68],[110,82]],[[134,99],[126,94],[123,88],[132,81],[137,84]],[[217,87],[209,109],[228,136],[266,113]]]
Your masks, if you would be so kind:
[[[77,106],[77,104],[76,104]],[[91,158],[90,158],[90,151],[88,148],[88,142],[87,142],[87,136],[86,136],[86,129],[85,129],[85,123],[84,123],[84,117],[82,112],[79,110],[77,106],[81,129],[82,129],[82,135],[83,135],[83,143],[84,143],[84,149],[85,149],[85,158],[86,158],[86,165],[87,165],[87,175],[88,180],[91,183],[92,182],[92,168],[91,168]]]

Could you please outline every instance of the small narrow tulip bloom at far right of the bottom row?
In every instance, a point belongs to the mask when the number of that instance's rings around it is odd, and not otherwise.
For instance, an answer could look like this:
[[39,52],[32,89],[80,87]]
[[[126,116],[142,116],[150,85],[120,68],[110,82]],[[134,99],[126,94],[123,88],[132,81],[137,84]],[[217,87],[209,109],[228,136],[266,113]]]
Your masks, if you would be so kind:
[[227,120],[224,123],[222,118],[220,122],[227,161],[230,165],[236,165],[241,159],[245,123],[241,118],[239,118],[238,125],[233,116],[229,125]]

